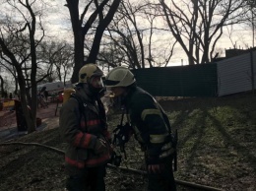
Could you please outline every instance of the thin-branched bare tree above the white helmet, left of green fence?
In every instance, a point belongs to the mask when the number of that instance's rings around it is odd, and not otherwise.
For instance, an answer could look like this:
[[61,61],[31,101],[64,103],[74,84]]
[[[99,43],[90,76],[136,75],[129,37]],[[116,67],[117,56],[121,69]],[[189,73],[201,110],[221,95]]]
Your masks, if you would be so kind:
[[[118,12],[104,35],[100,58],[111,67],[146,68],[166,66],[173,53],[175,40],[164,38],[167,31],[160,24],[162,18],[158,9],[149,1],[121,2]],[[113,66],[114,65],[114,66]]]

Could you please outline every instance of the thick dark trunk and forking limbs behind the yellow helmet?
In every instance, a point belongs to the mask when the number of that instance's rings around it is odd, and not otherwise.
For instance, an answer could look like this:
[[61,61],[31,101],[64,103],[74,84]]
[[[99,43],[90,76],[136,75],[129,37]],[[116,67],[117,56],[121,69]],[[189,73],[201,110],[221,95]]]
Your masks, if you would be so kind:
[[[108,0],[104,0],[101,2],[99,6],[96,6],[96,11],[91,15],[89,18],[88,22],[84,26],[83,25],[83,18],[86,14],[86,12],[83,12],[81,18],[79,16],[79,0],[66,0],[67,1],[67,6],[70,12],[70,18],[71,18],[71,24],[72,24],[72,29],[74,33],[74,44],[75,44],[75,65],[74,65],[74,70],[71,78],[72,83],[77,83],[78,82],[78,73],[80,68],[86,64],[86,63],[96,63],[96,57],[99,51],[99,45],[101,41],[102,34],[108,24],[112,21],[113,15],[116,12],[120,1],[121,0],[114,0],[112,5],[110,6],[110,9],[108,13],[106,14],[105,18],[102,21],[99,21],[99,25],[96,29],[96,35],[94,39],[94,43],[91,49],[91,52],[88,56],[87,61],[84,61],[84,43],[86,39],[86,34],[92,27],[92,24],[96,20],[96,16],[100,14],[103,10],[103,7],[105,4],[108,2]],[[90,5],[90,4],[89,4]],[[89,6],[88,5],[88,6]],[[87,10],[88,7],[85,9]]]

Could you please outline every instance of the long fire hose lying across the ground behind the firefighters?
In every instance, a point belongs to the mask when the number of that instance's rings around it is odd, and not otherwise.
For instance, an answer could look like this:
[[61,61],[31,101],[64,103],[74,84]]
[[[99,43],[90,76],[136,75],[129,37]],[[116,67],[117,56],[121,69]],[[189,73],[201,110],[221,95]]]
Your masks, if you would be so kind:
[[[49,147],[46,145],[42,145],[39,143],[23,143],[23,142],[9,142],[9,143],[1,143],[0,146],[10,146],[10,145],[19,145],[19,146],[37,146],[37,147],[41,147],[41,148],[45,148],[47,150],[53,151],[57,154],[60,155],[64,155],[65,153],[62,150],[53,148],[53,147]],[[107,167],[112,168],[112,169],[120,169],[123,171],[128,171],[128,172],[133,172],[136,174],[141,174],[141,175],[146,175],[147,172],[143,171],[143,170],[138,170],[138,169],[133,169],[133,168],[127,168],[127,167],[122,167],[122,166],[115,166],[112,164],[107,164]],[[201,185],[201,184],[196,184],[193,182],[188,182],[188,181],[183,181],[183,180],[177,180],[175,179],[175,182],[179,185],[182,186],[187,186],[187,187],[191,187],[191,188],[197,188],[200,190],[209,190],[209,191],[222,191],[222,189],[219,188],[215,188],[215,187],[211,187],[211,186],[205,186],[205,185]]]

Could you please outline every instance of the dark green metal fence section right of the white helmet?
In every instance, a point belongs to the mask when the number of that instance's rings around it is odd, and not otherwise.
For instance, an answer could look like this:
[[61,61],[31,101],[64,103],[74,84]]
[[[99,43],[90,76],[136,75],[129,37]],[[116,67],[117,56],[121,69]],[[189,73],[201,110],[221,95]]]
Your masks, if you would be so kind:
[[217,64],[132,70],[137,85],[153,96],[217,96]]

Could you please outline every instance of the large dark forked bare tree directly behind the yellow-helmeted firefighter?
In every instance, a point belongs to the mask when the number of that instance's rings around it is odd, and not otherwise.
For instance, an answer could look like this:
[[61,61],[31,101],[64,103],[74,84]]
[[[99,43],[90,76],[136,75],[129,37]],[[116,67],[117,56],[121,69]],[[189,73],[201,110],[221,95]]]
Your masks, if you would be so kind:
[[[75,48],[75,66],[72,76],[72,83],[78,82],[78,72],[85,63],[95,63],[96,56],[99,50],[100,40],[103,32],[111,22],[121,0],[91,0],[87,1],[85,8],[80,15],[79,0],[66,0],[70,12],[72,29],[74,33],[74,48]],[[109,3],[109,5],[107,4]],[[86,35],[94,25],[96,29],[92,48],[84,61],[84,43]]]

